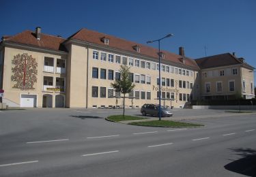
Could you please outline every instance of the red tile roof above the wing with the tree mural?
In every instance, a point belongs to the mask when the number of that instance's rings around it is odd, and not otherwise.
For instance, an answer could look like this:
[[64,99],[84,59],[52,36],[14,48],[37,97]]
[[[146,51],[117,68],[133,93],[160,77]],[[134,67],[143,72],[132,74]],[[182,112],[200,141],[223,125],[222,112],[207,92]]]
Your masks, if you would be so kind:
[[18,33],[17,35],[3,38],[5,39],[5,42],[25,44],[28,46],[35,46],[50,50],[60,50],[64,52],[67,51],[65,46],[62,45],[65,39],[61,37],[55,37],[53,35],[46,35],[44,33],[41,33],[40,40],[35,37],[35,33],[33,33],[33,31],[23,31],[22,33]]

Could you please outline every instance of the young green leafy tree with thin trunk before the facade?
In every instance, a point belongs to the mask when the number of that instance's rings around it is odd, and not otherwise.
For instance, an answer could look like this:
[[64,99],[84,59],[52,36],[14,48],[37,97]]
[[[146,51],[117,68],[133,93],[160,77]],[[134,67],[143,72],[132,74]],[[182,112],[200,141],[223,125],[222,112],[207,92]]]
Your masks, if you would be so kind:
[[120,66],[120,74],[121,78],[120,80],[116,79],[115,82],[111,83],[111,87],[115,89],[116,92],[120,92],[124,95],[123,97],[123,116],[125,111],[125,102],[126,102],[126,94],[130,93],[132,89],[134,88],[135,84],[132,83],[132,80],[130,79],[130,67],[126,65]]

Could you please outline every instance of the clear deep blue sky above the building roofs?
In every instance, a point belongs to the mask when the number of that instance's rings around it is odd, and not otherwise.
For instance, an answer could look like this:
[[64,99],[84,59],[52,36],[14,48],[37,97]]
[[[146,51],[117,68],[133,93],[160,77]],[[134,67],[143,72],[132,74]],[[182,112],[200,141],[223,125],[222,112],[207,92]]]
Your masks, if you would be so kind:
[[[42,27],[43,33],[69,37],[87,28],[146,44],[167,33],[161,48],[197,59],[236,52],[256,67],[255,0],[0,0],[0,36]],[[157,48],[157,44],[151,44]]]

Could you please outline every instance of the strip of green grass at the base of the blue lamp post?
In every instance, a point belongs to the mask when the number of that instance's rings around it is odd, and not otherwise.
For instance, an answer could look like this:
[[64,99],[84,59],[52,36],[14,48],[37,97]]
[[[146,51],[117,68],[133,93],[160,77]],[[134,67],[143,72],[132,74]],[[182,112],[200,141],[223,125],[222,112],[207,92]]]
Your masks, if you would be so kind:
[[171,120],[151,120],[146,122],[129,123],[130,125],[141,125],[149,127],[199,127],[203,125],[192,124],[192,123],[180,123]]

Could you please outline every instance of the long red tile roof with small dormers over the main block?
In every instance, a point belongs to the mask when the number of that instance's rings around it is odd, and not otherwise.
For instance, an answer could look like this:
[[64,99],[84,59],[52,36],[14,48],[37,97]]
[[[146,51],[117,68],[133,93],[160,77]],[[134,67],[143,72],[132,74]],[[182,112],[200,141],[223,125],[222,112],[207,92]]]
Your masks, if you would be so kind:
[[[130,42],[130,41],[127,41],[126,39],[120,39],[120,38],[112,36],[112,35],[98,33],[97,31],[81,29],[81,30],[77,31],[76,33],[74,33],[74,35],[70,36],[68,39],[76,39],[76,40],[83,41],[83,42],[90,42],[93,44],[106,46],[106,44],[104,44],[104,42],[102,42],[102,40],[101,40],[102,37],[106,37],[109,39],[108,46],[111,48],[116,48],[116,49],[124,50],[124,51],[128,51],[128,52],[137,52],[136,50],[134,50],[134,46],[139,45],[140,52],[138,54],[142,54],[147,57],[152,57],[152,58],[158,59],[158,49],[156,49],[156,48],[152,48],[150,46],[145,46],[143,44],[138,44],[136,42]],[[172,61],[172,62],[178,63],[180,65],[186,65],[189,67],[193,67],[194,69],[199,69],[197,63],[193,59],[189,59],[189,58],[185,57],[186,62],[185,62],[185,64],[183,64],[181,61],[182,56],[180,56],[178,54],[173,54],[171,52],[167,52],[164,50],[162,50],[161,52],[164,52],[164,54],[165,54],[165,59],[163,59],[164,61]]]

